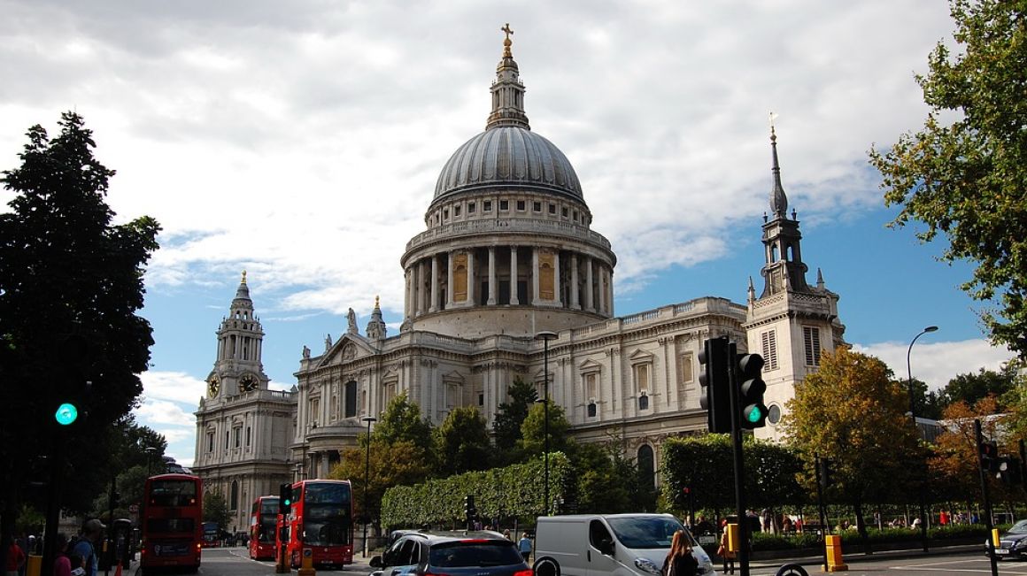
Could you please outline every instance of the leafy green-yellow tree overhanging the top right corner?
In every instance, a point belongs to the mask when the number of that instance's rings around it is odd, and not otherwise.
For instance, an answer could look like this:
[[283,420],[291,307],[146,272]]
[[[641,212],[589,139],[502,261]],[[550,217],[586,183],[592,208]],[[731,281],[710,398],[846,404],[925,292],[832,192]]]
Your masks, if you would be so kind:
[[870,152],[883,177],[887,205],[902,205],[891,223],[926,225],[939,234],[942,260],[976,264],[962,287],[991,302],[982,314],[994,342],[1027,357],[1027,15],[1022,2],[950,0],[961,52],[939,42],[917,75],[930,112],[923,128],[886,152]]

